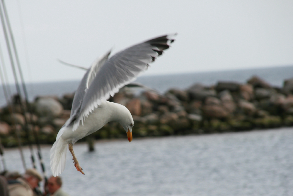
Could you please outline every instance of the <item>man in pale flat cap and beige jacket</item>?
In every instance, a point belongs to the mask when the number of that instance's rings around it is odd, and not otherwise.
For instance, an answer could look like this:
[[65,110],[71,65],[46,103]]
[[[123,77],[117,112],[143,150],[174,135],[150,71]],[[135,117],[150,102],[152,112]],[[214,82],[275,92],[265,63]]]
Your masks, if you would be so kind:
[[8,181],[10,196],[34,196],[34,189],[42,181],[42,175],[36,169],[27,169],[22,177]]

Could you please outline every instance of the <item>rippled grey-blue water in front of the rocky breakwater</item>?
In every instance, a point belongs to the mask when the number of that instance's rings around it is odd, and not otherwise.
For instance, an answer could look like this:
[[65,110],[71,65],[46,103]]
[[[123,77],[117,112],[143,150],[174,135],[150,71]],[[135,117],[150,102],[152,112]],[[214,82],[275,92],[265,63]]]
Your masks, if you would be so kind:
[[[126,136],[125,136],[126,137]],[[85,175],[67,152],[62,178],[70,195],[293,195],[293,130],[99,141],[75,144]],[[49,172],[50,147],[42,148]],[[25,149],[27,165],[29,151]],[[23,172],[17,149],[9,170]]]

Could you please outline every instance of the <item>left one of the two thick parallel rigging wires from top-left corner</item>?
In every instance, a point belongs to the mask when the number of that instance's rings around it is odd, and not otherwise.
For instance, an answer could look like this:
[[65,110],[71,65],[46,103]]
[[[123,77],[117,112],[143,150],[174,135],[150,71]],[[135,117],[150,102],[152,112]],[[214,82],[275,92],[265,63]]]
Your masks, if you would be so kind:
[[[13,61],[13,57],[12,57],[12,53],[11,53],[11,47],[10,47],[10,43],[9,43],[9,40],[8,40],[7,30],[6,30],[6,26],[5,26],[5,22],[4,22],[4,16],[3,16],[3,12],[2,12],[2,8],[4,10],[6,10],[4,8],[4,5],[5,4],[4,4],[4,1],[3,0],[1,2],[2,2],[2,6],[0,7],[0,18],[1,18],[2,28],[3,28],[3,32],[4,32],[4,37],[5,37],[5,41],[6,41],[6,46],[7,46],[7,51],[8,51],[8,54],[9,54],[9,59],[10,59],[12,71],[13,71],[13,76],[14,76],[14,80],[15,80],[16,90],[17,90],[18,95],[21,98],[21,90],[20,90],[20,86],[19,86],[19,83],[18,83],[16,69],[15,69],[15,66],[14,66],[14,61]],[[24,108],[24,106],[23,106],[22,103],[23,102],[20,101],[21,110],[22,110],[22,113],[23,113],[23,115],[25,117],[26,116],[25,115],[25,108]],[[25,118],[25,121],[26,121],[26,118]],[[25,124],[27,125],[27,121],[26,121]],[[28,137],[28,145],[29,145],[30,154],[31,154],[31,161],[32,161],[33,167],[36,168],[35,158],[34,158],[34,153],[33,153],[33,147],[32,147],[31,141],[30,141],[29,130],[28,130],[28,127],[27,126],[25,127],[25,131],[26,131],[27,137]]]

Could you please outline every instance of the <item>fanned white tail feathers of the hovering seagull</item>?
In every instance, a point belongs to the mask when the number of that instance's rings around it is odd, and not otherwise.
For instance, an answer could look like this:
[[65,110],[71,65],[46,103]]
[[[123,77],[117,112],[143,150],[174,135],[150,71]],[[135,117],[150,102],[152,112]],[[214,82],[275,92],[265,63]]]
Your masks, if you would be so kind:
[[62,137],[59,137],[50,150],[50,167],[54,177],[65,169],[67,146]]

